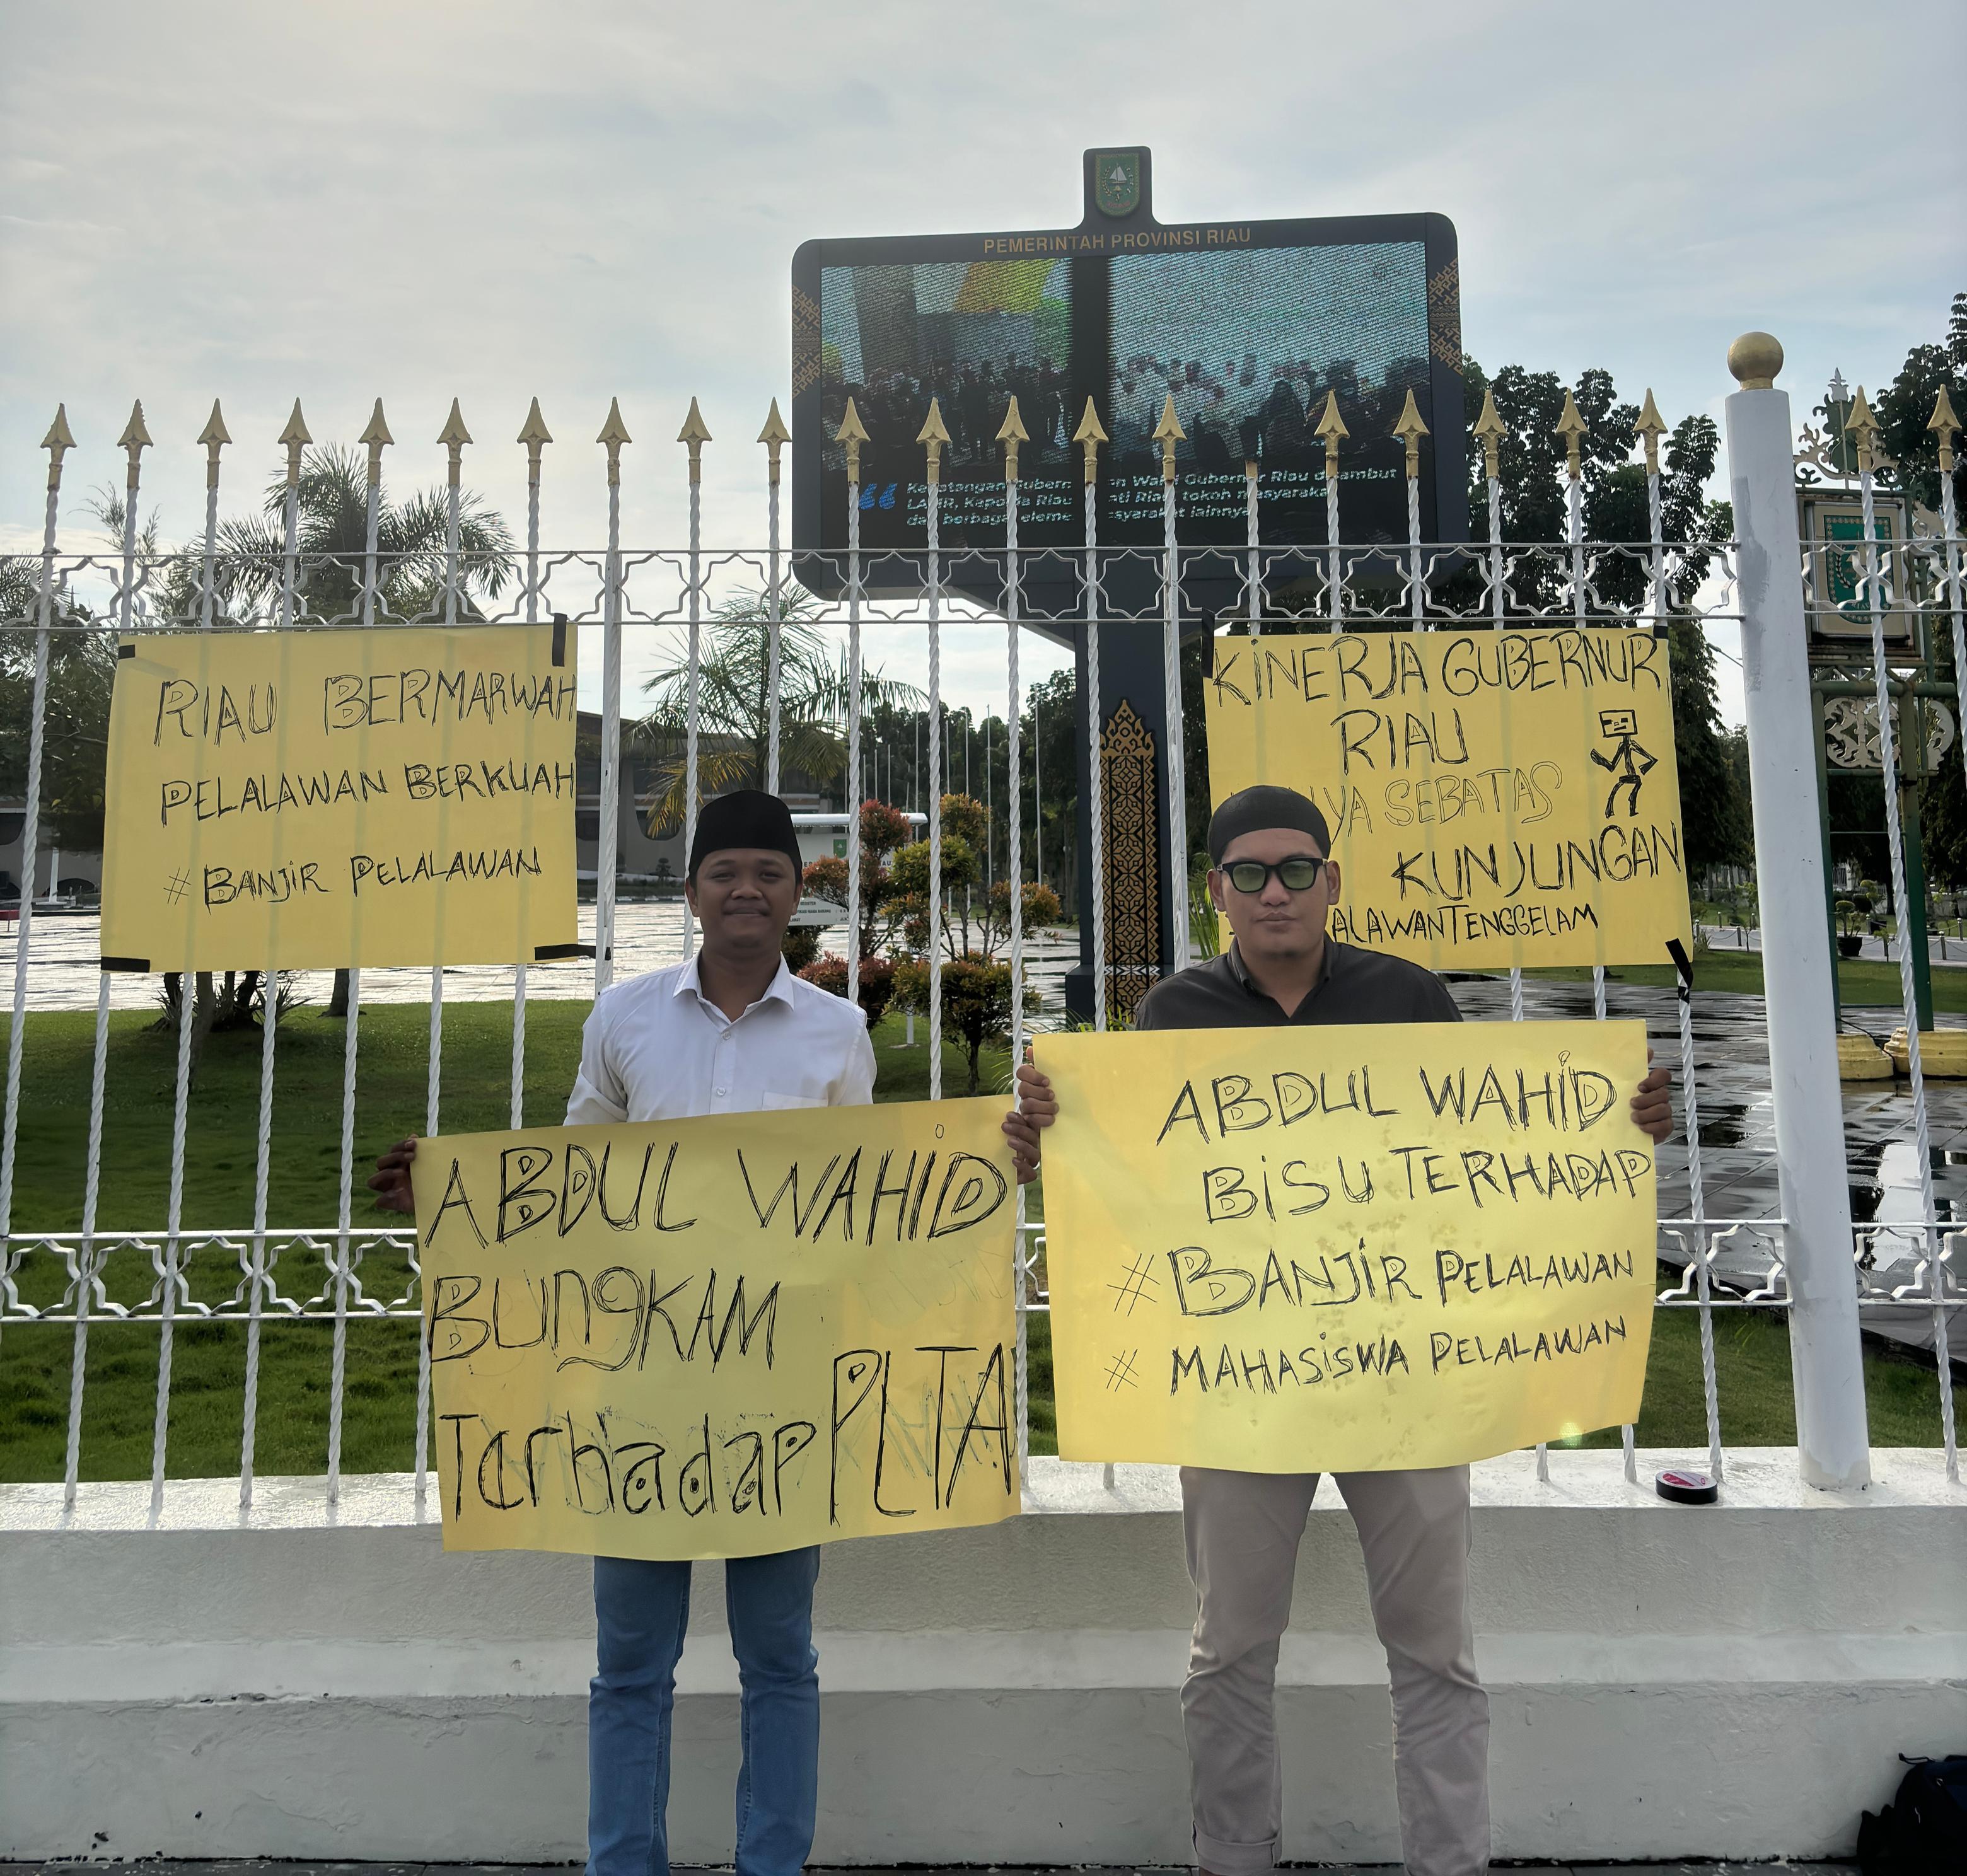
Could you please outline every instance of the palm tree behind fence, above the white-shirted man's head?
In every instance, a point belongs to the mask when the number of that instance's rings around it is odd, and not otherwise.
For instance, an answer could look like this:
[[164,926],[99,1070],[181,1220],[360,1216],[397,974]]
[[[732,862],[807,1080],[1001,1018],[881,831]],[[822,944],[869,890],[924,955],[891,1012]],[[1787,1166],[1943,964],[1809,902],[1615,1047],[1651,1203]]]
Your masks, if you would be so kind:
[[[846,651],[820,631],[820,602],[803,586],[789,586],[779,625],[779,761],[814,781],[846,773],[848,718]],[[683,643],[669,647],[671,663],[643,690],[649,712],[633,726],[641,743],[663,751],[659,779],[643,806],[651,826],[673,828],[685,818],[686,751],[690,718],[690,665]],[[913,684],[862,671],[862,710],[881,704],[917,708]],[[765,787],[771,745],[771,631],[765,594],[732,594],[710,616],[696,663],[696,728],[712,747],[696,759],[698,791]],[[852,787],[848,789],[852,794]]]

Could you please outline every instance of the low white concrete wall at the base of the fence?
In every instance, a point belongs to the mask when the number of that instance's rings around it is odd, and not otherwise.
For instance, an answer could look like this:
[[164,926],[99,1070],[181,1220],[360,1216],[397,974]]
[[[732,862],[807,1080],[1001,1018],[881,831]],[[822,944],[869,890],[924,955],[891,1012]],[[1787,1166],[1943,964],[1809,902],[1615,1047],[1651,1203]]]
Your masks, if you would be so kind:
[[[1640,1455],[1640,1477],[1678,1455]],[[1731,1455],[1672,1506],[1617,1453],[1477,1467],[1477,1654],[1499,1856],[1849,1850],[1896,1752],[1967,1740],[1967,1493]],[[588,1569],[445,1555],[405,1477],[0,1487],[0,1858],[582,1854]],[[1174,1479],[1035,1461],[1029,1516],[834,1546],[816,1862],[1188,1860]],[[698,1571],[673,1852],[730,1856],[736,1673]],[[1281,1671],[1284,1854],[1399,1854],[1385,1664],[1322,1495]]]

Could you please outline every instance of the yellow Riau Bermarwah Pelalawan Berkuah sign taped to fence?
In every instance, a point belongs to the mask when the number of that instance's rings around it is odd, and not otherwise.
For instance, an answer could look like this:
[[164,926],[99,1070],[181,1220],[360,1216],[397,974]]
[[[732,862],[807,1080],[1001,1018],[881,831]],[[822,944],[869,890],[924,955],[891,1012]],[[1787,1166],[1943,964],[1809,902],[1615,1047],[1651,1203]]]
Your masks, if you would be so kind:
[[565,625],[124,639],[102,967],[574,956]]

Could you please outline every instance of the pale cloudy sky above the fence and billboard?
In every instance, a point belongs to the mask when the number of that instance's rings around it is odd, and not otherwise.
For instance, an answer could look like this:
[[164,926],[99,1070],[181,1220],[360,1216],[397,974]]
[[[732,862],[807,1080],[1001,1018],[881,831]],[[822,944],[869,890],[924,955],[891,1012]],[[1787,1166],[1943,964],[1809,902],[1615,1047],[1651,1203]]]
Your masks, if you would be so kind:
[[[142,397],[146,490],[193,535],[214,395],[228,505],[277,472],[295,395],[323,440],[380,395],[397,488],[441,476],[458,397],[468,480],[507,515],[537,395],[545,537],[594,547],[608,399],[626,539],[673,545],[694,393],[706,529],[761,541],[793,248],[1076,224],[1098,144],[1153,146],[1162,220],[1448,214],[1475,358],[1605,366],[1670,421],[1719,415],[1749,326],[1782,338],[1802,417],[1833,366],[1888,380],[1967,285],[1937,83],[1967,63],[1959,0],[0,0],[0,45],[12,549],[39,547],[57,399],[81,498],[120,482]],[[65,545],[87,535],[67,501]],[[970,639],[952,690],[1001,696],[1001,639]],[[875,655],[919,678],[919,645]]]

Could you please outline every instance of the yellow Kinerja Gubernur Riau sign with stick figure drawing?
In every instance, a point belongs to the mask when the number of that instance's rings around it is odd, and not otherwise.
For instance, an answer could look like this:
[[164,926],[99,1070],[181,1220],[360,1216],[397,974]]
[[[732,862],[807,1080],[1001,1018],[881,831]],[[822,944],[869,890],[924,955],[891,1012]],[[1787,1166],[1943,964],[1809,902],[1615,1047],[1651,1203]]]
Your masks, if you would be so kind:
[[1281,783],[1324,810],[1336,936],[1432,969],[1692,944],[1664,639],[1233,633],[1204,700],[1218,802]]

